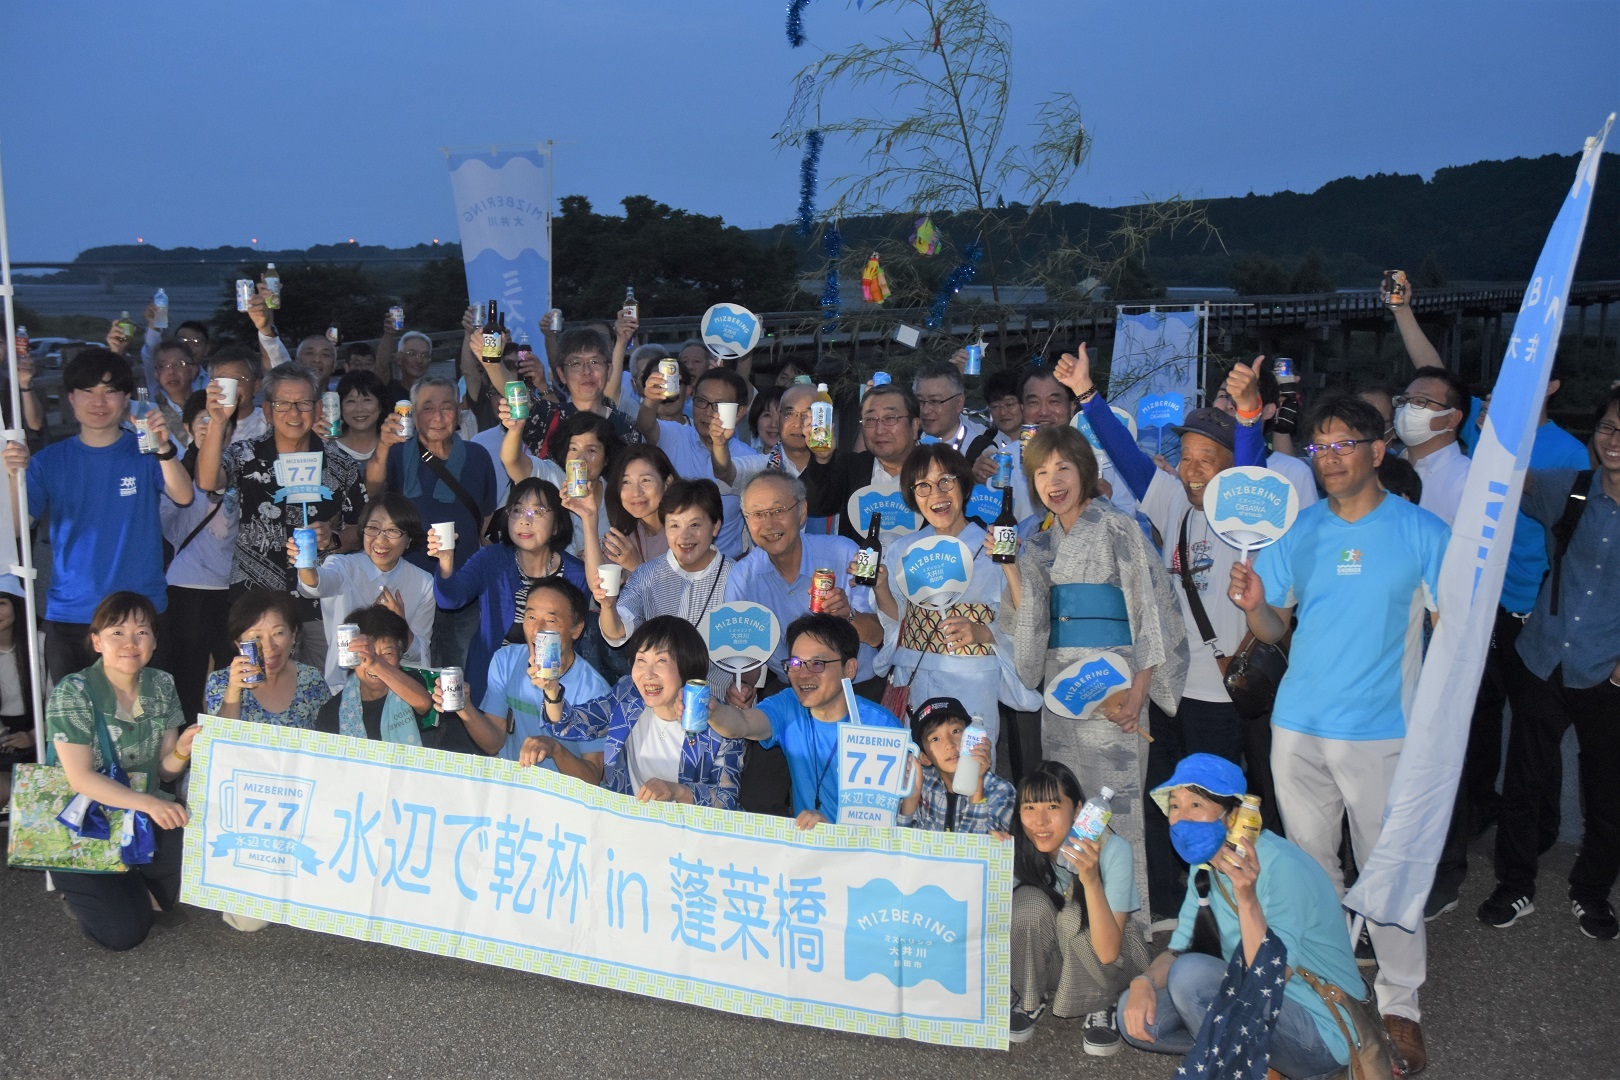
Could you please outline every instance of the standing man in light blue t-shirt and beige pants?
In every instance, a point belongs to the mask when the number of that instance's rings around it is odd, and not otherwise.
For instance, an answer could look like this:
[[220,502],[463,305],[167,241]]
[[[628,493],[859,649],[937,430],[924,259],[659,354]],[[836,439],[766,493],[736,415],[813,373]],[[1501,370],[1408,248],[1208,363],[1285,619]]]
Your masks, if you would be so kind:
[[[1383,418],[1349,393],[1324,397],[1306,455],[1327,500],[1231,570],[1231,593],[1260,641],[1281,641],[1298,612],[1288,674],[1272,709],[1272,774],[1288,837],[1343,894],[1340,829],[1349,814],[1366,863],[1383,827],[1390,780],[1406,738],[1406,709],[1422,665],[1422,615],[1435,612],[1450,529],[1434,513],[1379,486]],[[1427,959],[1422,928],[1372,926],[1383,1025],[1409,1072],[1427,1052],[1418,988]]]

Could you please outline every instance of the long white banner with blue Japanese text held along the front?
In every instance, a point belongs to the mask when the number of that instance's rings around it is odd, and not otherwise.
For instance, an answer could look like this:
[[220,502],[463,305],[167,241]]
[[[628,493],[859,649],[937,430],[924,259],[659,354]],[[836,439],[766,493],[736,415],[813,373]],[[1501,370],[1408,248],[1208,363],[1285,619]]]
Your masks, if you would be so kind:
[[800,831],[509,761],[202,730],[186,904],[745,1015],[1006,1046],[1006,844]]

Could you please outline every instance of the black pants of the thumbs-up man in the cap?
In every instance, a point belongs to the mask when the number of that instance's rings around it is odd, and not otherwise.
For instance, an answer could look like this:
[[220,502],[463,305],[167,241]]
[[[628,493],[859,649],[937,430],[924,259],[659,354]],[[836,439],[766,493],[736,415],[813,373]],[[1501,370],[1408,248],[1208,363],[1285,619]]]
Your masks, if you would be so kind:
[[[1183,698],[1176,716],[1150,701],[1147,716],[1153,732],[1147,746],[1149,792],[1168,780],[1176,763],[1187,755],[1218,755],[1233,764],[1243,761],[1243,721],[1231,701]],[[1147,847],[1147,891],[1153,915],[1174,915],[1186,895],[1183,874],[1187,865],[1170,845],[1170,819],[1152,798],[1142,800],[1142,842]]]

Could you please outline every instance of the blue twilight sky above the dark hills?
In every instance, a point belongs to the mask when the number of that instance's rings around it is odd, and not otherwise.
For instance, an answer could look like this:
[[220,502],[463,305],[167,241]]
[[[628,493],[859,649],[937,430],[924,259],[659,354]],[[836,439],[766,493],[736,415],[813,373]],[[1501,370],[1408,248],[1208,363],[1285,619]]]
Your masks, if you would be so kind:
[[[1043,96],[1072,92],[1095,142],[1066,198],[1102,206],[1573,154],[1620,107],[1620,0],[991,8],[1013,31],[1009,134]],[[454,240],[439,147],[544,139],[556,194],[598,210],[650,194],[784,222],[799,159],[771,134],[791,76],[907,23],[813,0],[799,50],[784,24],[784,0],[10,0],[11,257],[136,236]],[[829,147],[823,181],[854,164]]]

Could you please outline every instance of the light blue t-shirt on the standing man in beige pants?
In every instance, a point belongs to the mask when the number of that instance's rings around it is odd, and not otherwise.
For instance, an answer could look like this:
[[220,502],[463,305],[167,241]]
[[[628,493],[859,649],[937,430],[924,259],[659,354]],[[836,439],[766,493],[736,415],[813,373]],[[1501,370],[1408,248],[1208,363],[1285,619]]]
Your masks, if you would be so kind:
[[1301,510],[1254,562],[1265,602],[1299,614],[1272,724],[1320,738],[1403,738],[1422,614],[1435,610],[1452,529],[1388,494],[1359,521],[1330,505]]

